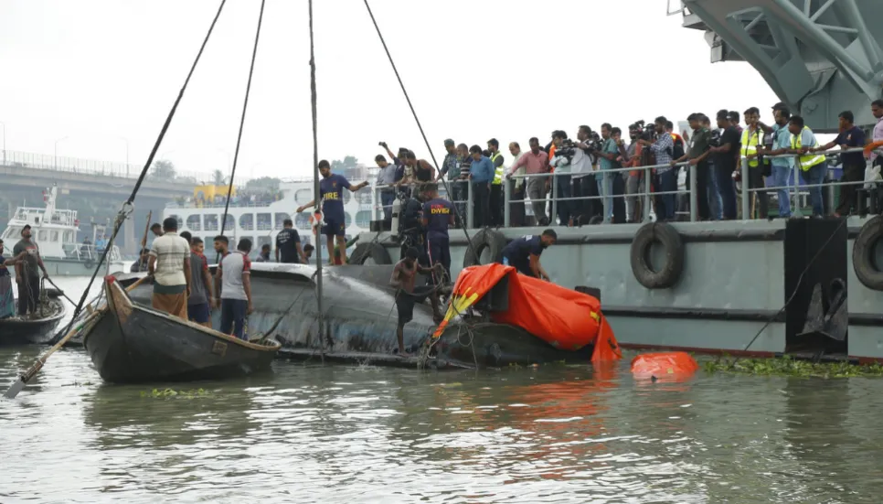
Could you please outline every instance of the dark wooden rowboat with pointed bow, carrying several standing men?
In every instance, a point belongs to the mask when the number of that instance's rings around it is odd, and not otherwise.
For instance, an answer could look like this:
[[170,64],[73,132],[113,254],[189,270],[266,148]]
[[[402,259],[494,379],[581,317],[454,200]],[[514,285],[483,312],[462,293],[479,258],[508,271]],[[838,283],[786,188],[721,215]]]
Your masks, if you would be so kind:
[[105,278],[107,312],[83,336],[104,381],[188,381],[267,370],[280,344],[244,341],[133,303]]

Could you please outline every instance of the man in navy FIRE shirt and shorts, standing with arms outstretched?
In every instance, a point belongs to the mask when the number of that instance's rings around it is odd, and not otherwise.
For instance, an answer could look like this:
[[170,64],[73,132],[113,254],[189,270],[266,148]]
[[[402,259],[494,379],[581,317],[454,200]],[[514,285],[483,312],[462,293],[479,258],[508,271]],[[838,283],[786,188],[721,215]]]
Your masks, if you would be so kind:
[[[322,174],[322,180],[319,181],[319,200],[322,201],[322,216],[325,222],[322,234],[327,238],[328,263],[335,263],[336,237],[337,245],[341,251],[341,263],[346,264],[346,215],[344,215],[343,190],[349,189],[351,192],[356,192],[367,186],[367,180],[355,186],[350,185],[346,177],[331,173],[331,165],[324,159],[319,161],[319,173]],[[303,209],[314,205],[315,199],[298,207],[296,211],[301,213]]]

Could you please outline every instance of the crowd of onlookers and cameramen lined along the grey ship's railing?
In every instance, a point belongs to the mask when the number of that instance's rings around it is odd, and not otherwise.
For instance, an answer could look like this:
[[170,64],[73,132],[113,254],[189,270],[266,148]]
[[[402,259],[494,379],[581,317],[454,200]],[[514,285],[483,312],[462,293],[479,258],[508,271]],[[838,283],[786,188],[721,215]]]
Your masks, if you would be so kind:
[[[883,101],[873,102],[871,112],[878,119],[874,141],[883,140]],[[744,119],[744,126],[742,119]],[[379,167],[377,185],[380,187],[384,220],[391,220],[392,203],[402,190],[416,184],[446,179],[455,202],[457,214],[465,219],[468,190],[472,189],[474,227],[498,227],[504,224],[503,185],[514,178],[510,196],[510,226],[554,225],[574,226],[601,220],[622,223],[643,220],[645,177],[650,177],[651,199],[657,220],[676,220],[677,213],[687,213],[691,201],[678,195],[678,175],[686,166],[696,166],[687,173],[696,174],[699,220],[734,220],[739,216],[736,183],[740,181],[742,160],[749,166],[747,188],[766,187],[768,177],[774,181],[770,191],[754,192],[750,209],[742,209],[745,219],[770,217],[769,196],[778,196],[778,217],[791,216],[789,183],[795,163],[807,188],[814,215],[824,215],[821,184],[827,175],[824,151],[835,146],[844,149],[864,147],[866,134],[855,125],[854,114],[845,111],[839,115],[840,134],[821,145],[805,124],[803,117],[793,115],[784,103],[772,107],[771,124],[761,121],[756,107],[738,113],[721,110],[714,122],[704,113],[688,117],[690,131],[682,136],[675,133],[674,124],[665,117],[657,117],[652,124],[633,123],[628,127],[629,141],[622,138],[622,129],[610,123],[601,124],[600,134],[590,126],[582,125],[576,140],[564,131],[551,134],[551,142],[541,145],[534,137],[528,141],[527,151],[518,142],[508,145],[506,158],[500,152],[500,143],[492,138],[486,149],[479,145],[456,144],[445,140],[447,152],[439,173],[425,159],[413,151],[399,148],[393,153],[381,143],[387,155],[377,155]],[[777,157],[778,156],[778,157]],[[390,160],[388,160],[391,159]],[[883,157],[871,153],[877,165]],[[866,166],[862,153],[841,155],[843,177],[841,182],[864,179]],[[644,168],[644,166],[654,166]],[[630,169],[633,168],[633,169]],[[555,177],[548,174],[555,173]],[[556,184],[554,205],[548,197]],[[687,180],[687,187],[690,181]],[[813,186],[816,185],[816,186]],[[528,222],[525,205],[533,210],[533,222]],[[856,186],[841,188],[839,205],[832,213],[847,215],[856,212]],[[606,211],[605,211],[606,209]]]

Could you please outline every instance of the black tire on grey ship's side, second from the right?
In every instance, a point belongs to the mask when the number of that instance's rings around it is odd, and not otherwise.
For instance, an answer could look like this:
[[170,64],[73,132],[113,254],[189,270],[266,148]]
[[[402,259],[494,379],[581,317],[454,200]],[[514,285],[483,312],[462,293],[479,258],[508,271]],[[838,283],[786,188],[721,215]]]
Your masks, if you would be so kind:
[[[650,247],[654,242],[665,249],[665,265],[659,272],[650,267]],[[668,289],[684,272],[684,242],[681,235],[665,222],[648,222],[634,233],[629,252],[632,273],[638,284],[648,289]]]

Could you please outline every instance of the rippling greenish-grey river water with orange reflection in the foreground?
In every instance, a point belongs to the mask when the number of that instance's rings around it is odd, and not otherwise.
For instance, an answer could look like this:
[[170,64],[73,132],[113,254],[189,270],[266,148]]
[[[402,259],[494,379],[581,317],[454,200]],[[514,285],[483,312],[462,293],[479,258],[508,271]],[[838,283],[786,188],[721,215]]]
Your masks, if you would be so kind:
[[[0,348],[0,387],[45,350]],[[63,349],[0,401],[0,502],[878,503],[881,392],[627,362],[112,386]]]

